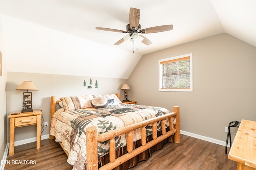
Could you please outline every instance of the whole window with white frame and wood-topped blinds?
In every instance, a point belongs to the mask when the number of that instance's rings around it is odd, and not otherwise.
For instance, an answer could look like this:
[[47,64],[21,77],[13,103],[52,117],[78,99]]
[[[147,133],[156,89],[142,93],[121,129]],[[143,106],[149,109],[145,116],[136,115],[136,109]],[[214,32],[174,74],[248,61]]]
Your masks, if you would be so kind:
[[192,53],[159,60],[159,91],[193,91]]

